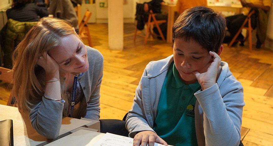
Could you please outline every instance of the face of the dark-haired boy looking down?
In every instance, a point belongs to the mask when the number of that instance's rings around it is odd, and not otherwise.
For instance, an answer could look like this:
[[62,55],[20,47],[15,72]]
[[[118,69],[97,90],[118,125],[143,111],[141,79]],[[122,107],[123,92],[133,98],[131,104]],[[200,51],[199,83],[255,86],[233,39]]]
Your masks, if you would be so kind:
[[193,39],[187,42],[184,38],[174,40],[173,58],[180,79],[186,84],[193,84],[197,81],[193,71],[204,73],[213,62],[213,57],[205,48]]

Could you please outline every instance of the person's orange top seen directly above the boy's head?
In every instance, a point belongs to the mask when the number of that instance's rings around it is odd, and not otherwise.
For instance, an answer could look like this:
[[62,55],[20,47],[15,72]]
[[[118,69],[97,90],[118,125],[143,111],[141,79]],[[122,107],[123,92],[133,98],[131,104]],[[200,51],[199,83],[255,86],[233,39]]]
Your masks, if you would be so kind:
[[195,6],[207,6],[207,0],[195,0],[195,1],[186,1],[178,0],[176,3],[178,14],[182,14],[186,9],[195,7]]

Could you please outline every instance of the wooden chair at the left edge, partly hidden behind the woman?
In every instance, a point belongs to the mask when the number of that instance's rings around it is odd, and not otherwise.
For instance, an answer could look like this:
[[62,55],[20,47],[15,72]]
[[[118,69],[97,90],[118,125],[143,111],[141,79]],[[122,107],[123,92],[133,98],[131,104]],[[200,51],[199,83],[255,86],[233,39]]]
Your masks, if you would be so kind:
[[[12,71],[8,68],[0,67],[0,80],[7,82],[7,83],[12,83]],[[7,105],[9,106],[15,106],[12,105],[12,96],[10,95]]]

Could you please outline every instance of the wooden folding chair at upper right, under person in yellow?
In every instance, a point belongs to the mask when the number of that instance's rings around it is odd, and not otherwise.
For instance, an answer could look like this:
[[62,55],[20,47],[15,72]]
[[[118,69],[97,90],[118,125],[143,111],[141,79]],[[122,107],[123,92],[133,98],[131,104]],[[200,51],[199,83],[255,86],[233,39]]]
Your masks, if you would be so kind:
[[[235,42],[235,40],[237,39],[238,35],[241,33],[242,29],[247,29],[248,30],[248,43],[249,43],[249,50],[250,52],[252,52],[252,30],[253,28],[251,27],[251,16],[252,14],[255,13],[255,10],[252,10],[248,13],[247,18],[245,19],[245,21],[243,22],[242,26],[240,27],[240,29],[237,31],[237,33],[235,34],[235,36],[233,37],[233,39],[231,40],[231,42],[228,44],[228,47],[231,47],[232,44]],[[246,23],[248,23],[248,27],[245,27]]]

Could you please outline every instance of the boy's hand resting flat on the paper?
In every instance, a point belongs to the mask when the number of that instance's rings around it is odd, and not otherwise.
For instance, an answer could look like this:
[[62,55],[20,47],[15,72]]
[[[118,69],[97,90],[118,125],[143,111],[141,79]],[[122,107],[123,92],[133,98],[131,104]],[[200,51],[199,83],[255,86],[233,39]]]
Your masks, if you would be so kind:
[[153,131],[141,131],[134,136],[133,146],[154,146],[154,143],[168,145],[162,138],[156,135]]

